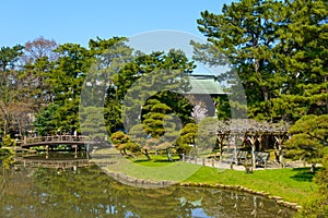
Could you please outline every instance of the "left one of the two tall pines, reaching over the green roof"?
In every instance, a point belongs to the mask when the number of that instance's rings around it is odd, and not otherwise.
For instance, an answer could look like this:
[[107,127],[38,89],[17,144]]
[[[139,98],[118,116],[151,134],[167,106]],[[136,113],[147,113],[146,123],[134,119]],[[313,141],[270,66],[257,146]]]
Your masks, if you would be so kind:
[[[249,117],[270,119],[270,99],[277,96],[281,83],[271,61],[272,48],[279,43],[276,35],[279,21],[276,17],[279,17],[281,8],[283,4],[274,1],[239,1],[224,4],[220,15],[203,11],[198,20],[199,31],[216,49],[204,47],[209,51],[206,56],[214,51],[218,52],[212,56],[215,59],[222,53],[238,73],[247,95]],[[200,45],[195,45],[198,50],[203,50]],[[203,60],[210,59],[206,57]],[[230,74],[227,72],[225,78],[231,78]]]

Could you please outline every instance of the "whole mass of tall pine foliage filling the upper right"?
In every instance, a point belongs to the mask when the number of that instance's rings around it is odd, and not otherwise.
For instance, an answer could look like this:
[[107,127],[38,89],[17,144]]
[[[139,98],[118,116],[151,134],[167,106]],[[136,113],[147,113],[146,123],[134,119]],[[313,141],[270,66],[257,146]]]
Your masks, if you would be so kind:
[[247,96],[248,117],[295,121],[327,113],[327,2],[242,0],[198,20],[207,45],[192,43],[196,60],[230,62],[218,75]]

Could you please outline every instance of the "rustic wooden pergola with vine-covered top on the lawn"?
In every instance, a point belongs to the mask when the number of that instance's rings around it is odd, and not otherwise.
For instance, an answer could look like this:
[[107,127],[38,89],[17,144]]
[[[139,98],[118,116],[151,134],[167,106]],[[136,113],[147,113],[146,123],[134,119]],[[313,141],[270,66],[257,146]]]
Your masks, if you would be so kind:
[[267,149],[274,149],[276,160],[284,167],[283,147],[289,138],[286,123],[257,122],[255,120],[239,119],[220,121],[216,130],[216,144],[220,150],[220,160],[223,158],[223,148],[233,142],[235,161],[246,159],[243,148],[250,147],[251,167],[257,161],[266,162],[269,158]]

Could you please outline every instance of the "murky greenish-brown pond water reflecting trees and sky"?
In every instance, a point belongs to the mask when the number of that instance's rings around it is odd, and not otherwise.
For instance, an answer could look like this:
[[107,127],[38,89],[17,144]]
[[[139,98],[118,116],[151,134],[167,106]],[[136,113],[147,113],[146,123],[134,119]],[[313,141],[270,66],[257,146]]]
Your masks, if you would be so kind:
[[273,201],[241,192],[169,186],[142,189],[96,166],[65,171],[0,167],[0,217],[292,217]]

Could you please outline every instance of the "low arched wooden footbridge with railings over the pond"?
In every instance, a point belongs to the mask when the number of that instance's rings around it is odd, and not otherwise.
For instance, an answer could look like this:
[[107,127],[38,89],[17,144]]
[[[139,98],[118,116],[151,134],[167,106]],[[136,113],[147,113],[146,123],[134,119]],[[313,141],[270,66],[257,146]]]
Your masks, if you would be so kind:
[[84,135],[55,135],[55,136],[36,136],[25,137],[21,142],[22,148],[31,148],[34,146],[51,146],[51,145],[95,145],[106,142],[105,138],[95,140]]

